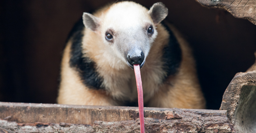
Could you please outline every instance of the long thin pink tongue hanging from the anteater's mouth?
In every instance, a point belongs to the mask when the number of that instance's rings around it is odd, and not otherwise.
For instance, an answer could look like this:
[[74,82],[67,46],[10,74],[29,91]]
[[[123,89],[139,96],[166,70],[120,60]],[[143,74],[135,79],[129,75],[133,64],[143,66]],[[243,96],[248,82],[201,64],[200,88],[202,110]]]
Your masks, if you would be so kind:
[[140,65],[135,64],[135,65],[133,65],[133,67],[134,67],[135,78],[136,78],[136,83],[137,83],[137,90],[138,90],[138,103],[139,103],[141,133],[145,133],[145,131],[144,131],[144,111],[143,111],[143,90],[142,90],[142,82],[141,82]]

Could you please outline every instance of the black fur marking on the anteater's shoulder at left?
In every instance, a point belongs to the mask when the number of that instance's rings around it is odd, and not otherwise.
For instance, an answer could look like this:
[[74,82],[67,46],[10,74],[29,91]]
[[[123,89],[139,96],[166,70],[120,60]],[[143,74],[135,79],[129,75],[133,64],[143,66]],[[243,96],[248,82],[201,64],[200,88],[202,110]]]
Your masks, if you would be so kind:
[[80,74],[83,83],[91,89],[102,89],[102,77],[95,70],[95,62],[82,53],[82,37],[85,26],[81,19],[76,23],[69,38],[72,40],[70,51],[70,67],[75,67]]

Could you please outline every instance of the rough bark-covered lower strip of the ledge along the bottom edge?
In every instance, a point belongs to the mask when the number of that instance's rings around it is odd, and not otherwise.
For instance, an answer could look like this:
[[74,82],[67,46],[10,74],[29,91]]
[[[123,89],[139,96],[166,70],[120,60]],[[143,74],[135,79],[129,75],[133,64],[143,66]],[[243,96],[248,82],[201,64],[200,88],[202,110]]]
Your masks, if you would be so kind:
[[[86,133],[139,133],[139,119],[127,121],[95,121],[93,125],[84,124],[51,124],[34,123],[19,124],[0,120],[0,132],[86,132]],[[220,113],[200,113],[173,108],[165,119],[145,118],[145,132],[148,133],[235,133],[230,120]]]

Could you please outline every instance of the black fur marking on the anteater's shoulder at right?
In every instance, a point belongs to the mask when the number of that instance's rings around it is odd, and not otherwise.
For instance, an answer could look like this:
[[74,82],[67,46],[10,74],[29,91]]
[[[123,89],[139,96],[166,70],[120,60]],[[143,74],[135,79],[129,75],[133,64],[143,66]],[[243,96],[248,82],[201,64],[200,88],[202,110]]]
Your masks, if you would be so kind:
[[179,43],[170,28],[164,22],[161,22],[161,24],[169,33],[169,43],[165,48],[163,48],[163,69],[167,72],[165,77],[166,79],[170,75],[174,75],[177,72],[182,55]]

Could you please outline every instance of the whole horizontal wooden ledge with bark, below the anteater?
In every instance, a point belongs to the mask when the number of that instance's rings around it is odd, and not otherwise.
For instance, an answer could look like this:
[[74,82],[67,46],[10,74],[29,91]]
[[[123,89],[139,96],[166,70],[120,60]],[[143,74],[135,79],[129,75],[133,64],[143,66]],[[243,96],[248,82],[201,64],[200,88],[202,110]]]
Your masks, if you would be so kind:
[[[57,120],[57,117],[65,118],[74,118],[77,114],[81,113],[75,112],[74,110],[83,111],[83,109],[90,111],[98,109],[95,113],[98,113],[101,117],[104,115],[110,116],[113,115],[113,112],[122,112],[124,110],[132,112],[129,114],[129,120],[124,121],[113,121],[115,117],[122,116],[115,115],[112,117],[112,121],[94,121],[92,125],[87,124],[68,124],[68,123],[49,123],[49,122],[31,122],[31,123],[17,123],[10,122],[7,120],[0,120],[0,132],[86,132],[86,133],[113,133],[113,132],[123,132],[123,133],[138,133],[140,132],[139,119],[136,119],[136,114],[138,109],[136,107],[111,107],[111,106],[72,106],[72,105],[58,105],[58,104],[26,104],[26,103],[3,103],[0,102],[1,108],[1,118],[10,113],[13,113],[12,116],[7,116],[4,119],[16,119],[16,117],[23,117],[20,115],[26,115],[29,117],[35,117],[38,121],[44,121],[45,119]],[[21,108],[24,107],[24,108]],[[99,108],[100,107],[100,108]],[[2,110],[3,108],[8,108]],[[29,108],[29,111],[22,111],[23,109]],[[56,112],[54,115],[46,115],[45,119],[40,119],[38,115],[45,112],[48,108],[53,111],[55,109],[62,110],[64,112],[70,112],[71,110],[74,113],[69,113],[68,115],[62,116],[62,111]],[[135,109],[136,108],[136,109]],[[16,111],[15,111],[16,110]],[[15,111],[15,112],[12,112]],[[34,112],[33,111],[42,111]],[[46,112],[47,112],[46,111]],[[18,113],[23,112],[23,113]],[[101,113],[100,113],[101,112]],[[105,112],[105,113],[104,113]],[[85,113],[85,112],[83,112]],[[103,115],[102,115],[103,113]],[[30,115],[28,115],[30,114]],[[124,113],[126,114],[126,113]],[[207,132],[207,133],[234,133],[234,127],[232,126],[230,120],[225,116],[226,111],[219,110],[200,110],[200,109],[178,109],[178,108],[145,108],[144,111],[145,117],[145,131],[149,133],[167,133],[167,132]],[[57,117],[56,117],[56,116]],[[93,113],[91,115],[94,115]],[[71,116],[71,117],[70,117]],[[134,117],[136,116],[136,117]],[[26,117],[29,119],[29,117]],[[105,119],[104,117],[96,117],[95,119]],[[154,118],[152,118],[154,117]],[[23,117],[25,118],[25,117]],[[39,119],[38,119],[39,118]],[[121,118],[121,117],[120,117]],[[118,119],[120,119],[118,118]],[[138,117],[137,117],[138,118]],[[158,119],[155,119],[158,118]],[[87,117],[82,116],[81,119],[88,119]],[[89,119],[91,119],[89,117]],[[16,119],[19,120],[19,119]],[[30,119],[33,120],[33,119]],[[25,121],[25,120],[24,120]],[[72,120],[71,120],[72,121]],[[77,122],[81,122],[77,121]]]

